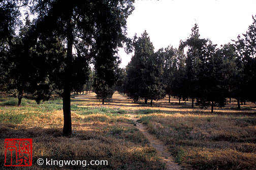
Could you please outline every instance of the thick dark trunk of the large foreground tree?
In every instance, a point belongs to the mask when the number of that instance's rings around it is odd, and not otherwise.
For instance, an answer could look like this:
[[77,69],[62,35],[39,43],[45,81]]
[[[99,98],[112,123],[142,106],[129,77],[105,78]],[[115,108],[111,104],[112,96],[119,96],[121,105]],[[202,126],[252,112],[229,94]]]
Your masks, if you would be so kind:
[[71,110],[70,110],[70,73],[72,64],[72,47],[73,47],[73,32],[71,22],[67,25],[67,58],[66,58],[66,68],[65,68],[65,78],[64,78],[64,88],[63,88],[63,132],[62,136],[70,136],[72,134],[72,120],[71,120]]

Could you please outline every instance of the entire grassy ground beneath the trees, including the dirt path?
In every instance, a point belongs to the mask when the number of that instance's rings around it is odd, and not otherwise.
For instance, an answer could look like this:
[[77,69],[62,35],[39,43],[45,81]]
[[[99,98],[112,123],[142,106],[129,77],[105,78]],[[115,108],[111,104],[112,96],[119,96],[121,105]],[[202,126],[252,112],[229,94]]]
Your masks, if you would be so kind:
[[[73,135],[61,137],[62,101],[37,105],[2,95],[0,143],[6,138],[33,138],[30,169],[79,169],[73,165],[38,165],[53,160],[108,160],[86,169],[256,169],[256,106],[241,110],[232,101],[223,108],[191,108],[191,101],[168,98],[153,107],[134,103],[117,92],[105,105],[94,93],[71,99]],[[4,166],[4,145],[0,145]],[[174,163],[176,162],[176,163]],[[179,164],[179,165],[178,165]],[[17,168],[29,169],[29,168]]]

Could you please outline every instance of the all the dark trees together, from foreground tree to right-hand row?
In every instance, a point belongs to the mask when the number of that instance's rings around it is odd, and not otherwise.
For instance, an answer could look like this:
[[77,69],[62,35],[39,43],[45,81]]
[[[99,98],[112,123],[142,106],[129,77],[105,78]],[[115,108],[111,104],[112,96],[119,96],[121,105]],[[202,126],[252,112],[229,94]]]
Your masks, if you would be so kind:
[[[0,1],[0,91],[25,93],[39,104],[63,98],[63,136],[72,133],[71,92],[94,91],[102,104],[115,90],[134,101],[166,95],[202,107],[226,99],[256,102],[256,16],[238,40],[217,46],[200,37],[197,24],[179,48],[154,51],[148,33],[127,38],[134,0]],[[26,11],[21,14],[21,11]],[[21,16],[25,16],[22,22]],[[29,17],[33,16],[34,19]],[[134,51],[125,69],[117,55]],[[93,67],[91,67],[93,65]]]

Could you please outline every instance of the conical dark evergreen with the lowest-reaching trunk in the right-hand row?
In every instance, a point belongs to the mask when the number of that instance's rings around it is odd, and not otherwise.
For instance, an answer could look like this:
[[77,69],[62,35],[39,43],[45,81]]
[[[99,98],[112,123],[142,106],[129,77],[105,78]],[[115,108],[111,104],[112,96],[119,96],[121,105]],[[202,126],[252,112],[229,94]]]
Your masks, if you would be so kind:
[[222,107],[226,103],[225,72],[223,71],[223,53],[208,39],[198,72],[198,104]]

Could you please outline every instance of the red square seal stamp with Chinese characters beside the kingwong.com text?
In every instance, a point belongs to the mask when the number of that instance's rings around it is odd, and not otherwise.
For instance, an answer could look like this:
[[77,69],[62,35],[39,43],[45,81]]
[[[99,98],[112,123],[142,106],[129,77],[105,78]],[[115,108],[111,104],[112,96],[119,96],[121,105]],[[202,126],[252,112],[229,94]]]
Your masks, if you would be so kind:
[[32,165],[32,139],[5,139],[5,166]]

